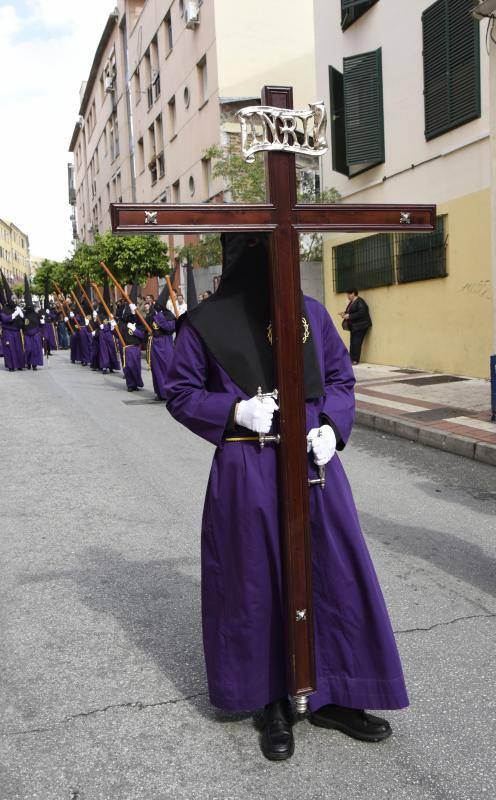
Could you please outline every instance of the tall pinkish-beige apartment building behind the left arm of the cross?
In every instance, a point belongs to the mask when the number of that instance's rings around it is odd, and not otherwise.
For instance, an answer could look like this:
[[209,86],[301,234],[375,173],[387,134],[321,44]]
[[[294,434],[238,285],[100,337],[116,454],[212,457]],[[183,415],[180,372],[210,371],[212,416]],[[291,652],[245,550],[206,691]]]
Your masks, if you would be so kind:
[[78,238],[108,230],[116,200],[222,199],[205,153],[237,136],[236,111],[264,84],[315,99],[312,0],[119,0],[69,148]]

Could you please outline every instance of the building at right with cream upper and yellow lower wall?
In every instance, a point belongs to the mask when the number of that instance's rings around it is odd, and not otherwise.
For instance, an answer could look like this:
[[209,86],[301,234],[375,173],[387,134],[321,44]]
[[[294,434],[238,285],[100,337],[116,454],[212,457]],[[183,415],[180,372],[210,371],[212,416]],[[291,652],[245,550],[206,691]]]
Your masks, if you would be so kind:
[[489,59],[474,5],[315,0],[316,81],[331,121],[324,185],[345,203],[438,207],[432,235],[326,237],[333,318],[356,286],[373,318],[364,360],[487,377]]

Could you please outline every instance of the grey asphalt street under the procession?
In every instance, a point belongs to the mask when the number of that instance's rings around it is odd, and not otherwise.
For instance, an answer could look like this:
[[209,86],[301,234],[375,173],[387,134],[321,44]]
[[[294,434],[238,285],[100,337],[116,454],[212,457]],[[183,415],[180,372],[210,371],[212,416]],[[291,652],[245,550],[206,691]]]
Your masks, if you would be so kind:
[[411,707],[371,745],[296,725],[266,761],[206,692],[199,530],[213,448],[146,390],[0,370],[0,800],[496,796],[496,470],[356,428],[342,458]]

